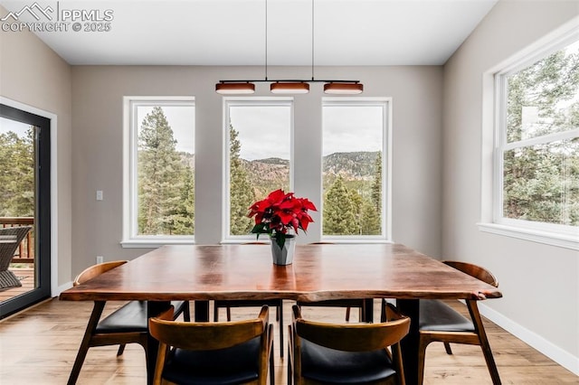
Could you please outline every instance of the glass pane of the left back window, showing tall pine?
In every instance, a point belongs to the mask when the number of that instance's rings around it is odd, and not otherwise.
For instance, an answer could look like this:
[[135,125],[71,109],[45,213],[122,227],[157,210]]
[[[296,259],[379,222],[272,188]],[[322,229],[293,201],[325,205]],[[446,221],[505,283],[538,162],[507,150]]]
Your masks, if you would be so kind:
[[138,235],[195,233],[195,108],[138,105]]

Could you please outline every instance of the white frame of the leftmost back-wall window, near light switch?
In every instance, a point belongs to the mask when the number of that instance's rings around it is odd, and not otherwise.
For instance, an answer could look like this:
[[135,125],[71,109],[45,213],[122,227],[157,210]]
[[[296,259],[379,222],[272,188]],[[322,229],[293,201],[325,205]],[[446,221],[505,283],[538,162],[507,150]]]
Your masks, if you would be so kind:
[[137,117],[137,108],[139,106],[195,108],[195,97],[123,97],[123,233],[120,244],[123,248],[158,248],[171,244],[194,244],[195,235],[138,235],[137,155],[140,122]]

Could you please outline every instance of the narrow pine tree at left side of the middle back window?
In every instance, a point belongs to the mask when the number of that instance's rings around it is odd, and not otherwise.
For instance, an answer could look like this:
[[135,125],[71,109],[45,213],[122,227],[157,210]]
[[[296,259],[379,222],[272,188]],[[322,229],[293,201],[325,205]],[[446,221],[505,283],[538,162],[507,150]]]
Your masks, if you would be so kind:
[[247,170],[242,163],[240,152],[242,144],[239,133],[229,124],[229,162],[230,162],[230,234],[249,234],[253,228],[251,218],[247,217],[249,207],[255,201],[255,193],[249,181]]

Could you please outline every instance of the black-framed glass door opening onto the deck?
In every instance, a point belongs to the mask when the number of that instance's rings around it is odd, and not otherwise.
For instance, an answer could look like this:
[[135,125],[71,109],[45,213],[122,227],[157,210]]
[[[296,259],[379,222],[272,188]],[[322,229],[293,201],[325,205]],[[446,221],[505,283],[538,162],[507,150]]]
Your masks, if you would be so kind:
[[0,104],[0,318],[50,296],[50,123]]

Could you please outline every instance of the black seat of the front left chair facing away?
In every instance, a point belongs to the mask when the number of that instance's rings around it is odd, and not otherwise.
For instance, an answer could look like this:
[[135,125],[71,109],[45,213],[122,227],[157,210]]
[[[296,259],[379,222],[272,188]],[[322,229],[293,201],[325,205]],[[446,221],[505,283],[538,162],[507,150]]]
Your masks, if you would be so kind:
[[241,384],[259,378],[259,355],[260,337],[214,351],[177,348],[167,355],[163,378],[183,385]]

